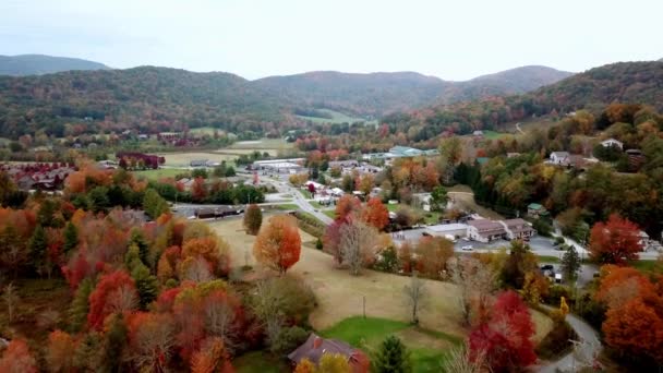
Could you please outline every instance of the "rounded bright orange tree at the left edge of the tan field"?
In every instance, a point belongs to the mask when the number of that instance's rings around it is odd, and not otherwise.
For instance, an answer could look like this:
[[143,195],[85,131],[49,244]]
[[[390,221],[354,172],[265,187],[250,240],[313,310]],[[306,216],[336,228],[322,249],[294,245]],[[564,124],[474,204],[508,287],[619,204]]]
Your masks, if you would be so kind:
[[267,220],[255,239],[253,255],[262,265],[281,275],[299,262],[301,238],[293,217],[277,215]]

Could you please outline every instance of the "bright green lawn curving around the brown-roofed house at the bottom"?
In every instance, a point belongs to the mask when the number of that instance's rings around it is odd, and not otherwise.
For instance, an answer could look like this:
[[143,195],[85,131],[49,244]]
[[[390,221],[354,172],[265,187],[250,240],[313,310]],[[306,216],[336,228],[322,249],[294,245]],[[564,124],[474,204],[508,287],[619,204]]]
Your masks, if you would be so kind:
[[375,351],[385,338],[396,335],[410,350],[414,372],[441,371],[446,349],[461,342],[457,337],[422,329],[408,323],[362,316],[346,318],[321,332],[321,335],[345,340],[367,351]]

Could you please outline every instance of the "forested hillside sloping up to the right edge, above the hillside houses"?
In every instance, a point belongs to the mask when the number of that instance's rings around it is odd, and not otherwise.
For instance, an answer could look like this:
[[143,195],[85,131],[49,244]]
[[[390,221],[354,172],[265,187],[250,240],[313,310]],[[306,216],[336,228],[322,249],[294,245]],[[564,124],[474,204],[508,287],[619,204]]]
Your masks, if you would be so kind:
[[383,121],[425,141],[444,133],[498,129],[532,116],[559,116],[578,109],[600,113],[611,103],[663,109],[663,63],[620,62],[572,75],[532,93],[496,96],[386,116]]

